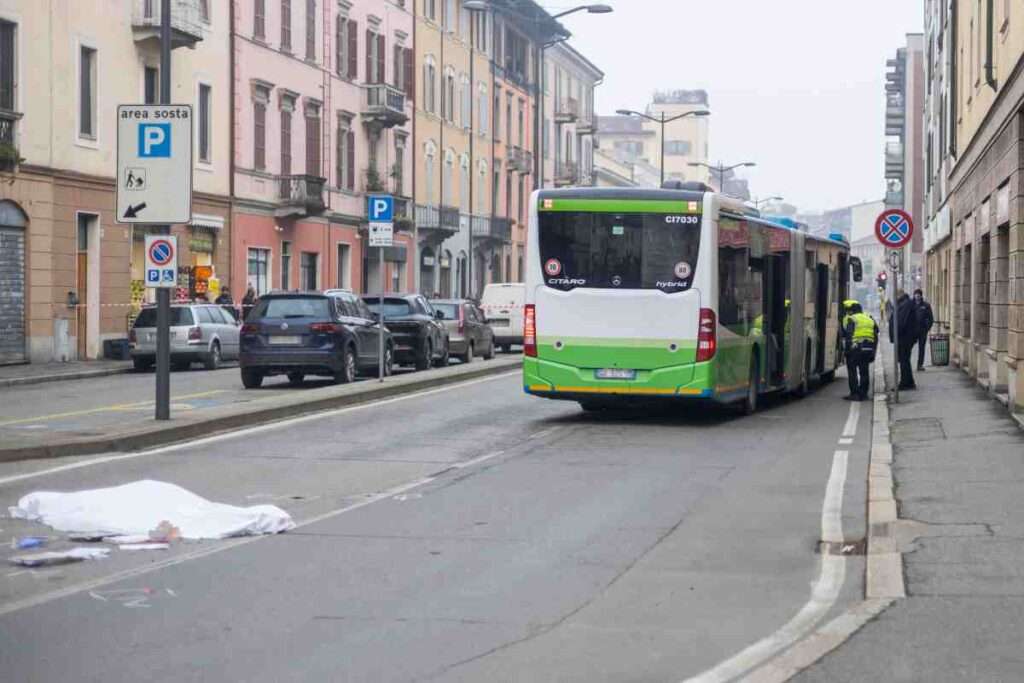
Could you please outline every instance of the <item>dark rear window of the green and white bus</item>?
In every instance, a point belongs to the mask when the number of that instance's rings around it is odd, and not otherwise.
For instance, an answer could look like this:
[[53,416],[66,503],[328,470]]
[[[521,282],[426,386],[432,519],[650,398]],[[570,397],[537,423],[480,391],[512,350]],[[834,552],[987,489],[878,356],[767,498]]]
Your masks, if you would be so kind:
[[693,284],[700,243],[695,214],[542,212],[541,268],[548,287],[657,289]]

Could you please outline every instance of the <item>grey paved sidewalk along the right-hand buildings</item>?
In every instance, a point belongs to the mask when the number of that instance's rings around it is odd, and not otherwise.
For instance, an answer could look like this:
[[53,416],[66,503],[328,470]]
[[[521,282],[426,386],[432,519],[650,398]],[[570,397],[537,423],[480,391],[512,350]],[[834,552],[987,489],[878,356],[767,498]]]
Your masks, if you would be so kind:
[[795,680],[1024,678],[1024,432],[955,368],[914,379],[890,405],[907,597]]

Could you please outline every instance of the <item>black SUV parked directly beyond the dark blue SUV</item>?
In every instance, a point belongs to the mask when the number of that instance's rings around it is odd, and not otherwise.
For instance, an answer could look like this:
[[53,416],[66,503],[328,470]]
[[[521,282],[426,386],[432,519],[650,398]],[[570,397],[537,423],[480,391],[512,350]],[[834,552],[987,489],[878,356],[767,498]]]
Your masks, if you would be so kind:
[[[362,301],[380,313],[380,295],[366,294]],[[384,325],[394,338],[394,361],[427,370],[449,364],[449,333],[438,313],[420,294],[385,294]]]

